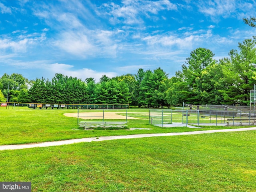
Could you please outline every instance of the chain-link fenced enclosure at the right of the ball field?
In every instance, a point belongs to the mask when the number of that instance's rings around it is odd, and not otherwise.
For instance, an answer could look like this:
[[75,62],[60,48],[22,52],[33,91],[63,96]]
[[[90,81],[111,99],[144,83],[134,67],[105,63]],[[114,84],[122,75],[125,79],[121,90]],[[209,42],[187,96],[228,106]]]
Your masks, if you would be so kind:
[[[192,125],[237,125],[238,118],[246,119],[244,125],[254,123],[256,112],[254,106],[200,106],[185,104],[185,107],[176,110],[150,110],[149,123],[164,127],[166,124]],[[233,119],[233,121],[230,121]],[[228,123],[227,123],[228,121]],[[241,122],[240,122],[241,124]]]

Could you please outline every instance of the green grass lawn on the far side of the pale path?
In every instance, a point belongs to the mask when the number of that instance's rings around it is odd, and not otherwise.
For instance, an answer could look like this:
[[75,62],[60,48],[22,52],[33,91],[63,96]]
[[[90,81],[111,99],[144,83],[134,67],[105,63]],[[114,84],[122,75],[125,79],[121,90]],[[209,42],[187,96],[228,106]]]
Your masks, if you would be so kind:
[[[84,110],[84,112],[95,112],[99,110]],[[111,112],[120,110],[111,110]],[[124,110],[126,111],[126,110]],[[147,113],[148,110],[129,110]],[[0,145],[26,144],[35,142],[58,141],[74,138],[145,134],[145,133],[166,133],[185,132],[196,130],[209,130],[212,127],[191,129],[186,127],[161,128],[149,124],[147,119],[128,120],[128,128],[151,128],[151,130],[82,130],[78,129],[77,118],[66,117],[64,113],[76,113],[77,110],[33,110],[33,109],[6,109],[0,108]],[[141,114],[140,114],[141,115]],[[139,115],[139,116],[140,116]],[[98,121],[98,120],[96,120]],[[217,127],[214,127],[216,129]]]

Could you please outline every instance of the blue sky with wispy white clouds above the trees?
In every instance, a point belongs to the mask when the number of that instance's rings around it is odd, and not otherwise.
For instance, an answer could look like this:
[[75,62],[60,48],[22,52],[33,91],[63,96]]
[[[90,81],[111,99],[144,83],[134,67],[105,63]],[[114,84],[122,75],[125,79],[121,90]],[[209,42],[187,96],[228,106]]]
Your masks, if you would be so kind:
[[242,20],[255,14],[255,0],[0,0],[0,76],[172,77],[196,48],[228,57],[256,35]]

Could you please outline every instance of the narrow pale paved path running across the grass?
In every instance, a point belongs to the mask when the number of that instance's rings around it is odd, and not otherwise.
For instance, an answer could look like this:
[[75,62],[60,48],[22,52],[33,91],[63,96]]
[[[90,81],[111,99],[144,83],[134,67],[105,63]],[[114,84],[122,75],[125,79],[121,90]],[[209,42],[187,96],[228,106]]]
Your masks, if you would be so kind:
[[63,140],[63,141],[36,143],[36,144],[2,145],[2,146],[0,146],[0,150],[14,150],[14,149],[25,149],[25,148],[34,148],[34,147],[49,147],[49,146],[68,145],[68,144],[80,143],[80,142],[106,141],[106,140],[115,140],[115,139],[133,139],[133,138],[142,138],[142,137],[195,135],[195,134],[204,134],[204,133],[236,132],[236,131],[251,131],[251,130],[256,130],[256,127],[238,128],[238,129],[206,130],[206,131],[190,131],[190,132],[180,132],[180,133],[152,133],[152,134],[136,134],[136,135],[126,135],[126,136],[124,136],[124,135],[102,136],[99,138],[92,137],[92,138],[82,138],[82,139],[70,139],[70,140]]

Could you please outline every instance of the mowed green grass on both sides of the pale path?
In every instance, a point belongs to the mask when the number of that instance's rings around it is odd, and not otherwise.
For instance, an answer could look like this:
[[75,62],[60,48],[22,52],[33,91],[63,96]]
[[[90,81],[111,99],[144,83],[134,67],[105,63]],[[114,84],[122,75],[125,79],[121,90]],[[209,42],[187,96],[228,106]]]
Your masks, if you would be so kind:
[[[0,110],[1,144],[91,136],[209,130],[72,130],[76,110]],[[233,127],[230,127],[233,128]],[[238,128],[238,127],[235,127]],[[2,137],[3,136],[3,137]],[[256,131],[79,143],[0,151],[0,181],[32,182],[33,192],[256,191]]]

